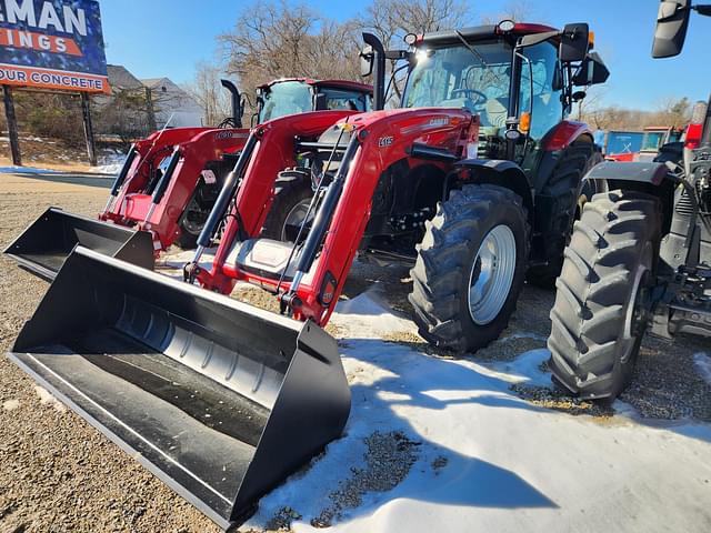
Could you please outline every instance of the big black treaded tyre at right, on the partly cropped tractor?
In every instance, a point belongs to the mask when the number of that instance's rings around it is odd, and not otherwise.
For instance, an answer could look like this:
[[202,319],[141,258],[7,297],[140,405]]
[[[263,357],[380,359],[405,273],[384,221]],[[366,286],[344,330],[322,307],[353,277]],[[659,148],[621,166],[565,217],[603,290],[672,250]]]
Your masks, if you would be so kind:
[[613,399],[632,379],[650,313],[661,205],[649,194],[595,194],[575,223],[551,310],[550,366],[584,399]]

